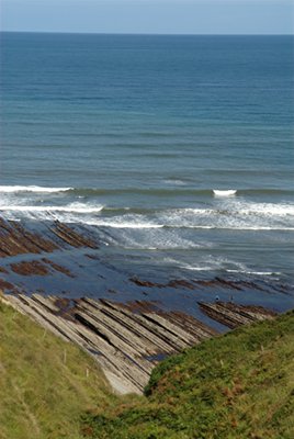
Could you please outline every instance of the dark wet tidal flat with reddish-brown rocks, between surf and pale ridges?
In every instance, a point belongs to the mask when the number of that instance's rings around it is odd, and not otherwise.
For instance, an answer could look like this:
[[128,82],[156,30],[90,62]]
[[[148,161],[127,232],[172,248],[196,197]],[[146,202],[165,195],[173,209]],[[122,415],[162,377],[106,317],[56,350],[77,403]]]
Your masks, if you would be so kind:
[[[137,262],[136,254],[105,247],[99,228],[82,224],[13,222],[0,217],[0,289],[7,293],[88,296],[118,303],[147,301],[211,324],[197,302],[261,305],[282,313],[293,303],[293,285],[275,277],[177,271]],[[133,259],[132,259],[133,258]],[[134,260],[134,263],[132,262]],[[156,260],[155,260],[156,261]]]

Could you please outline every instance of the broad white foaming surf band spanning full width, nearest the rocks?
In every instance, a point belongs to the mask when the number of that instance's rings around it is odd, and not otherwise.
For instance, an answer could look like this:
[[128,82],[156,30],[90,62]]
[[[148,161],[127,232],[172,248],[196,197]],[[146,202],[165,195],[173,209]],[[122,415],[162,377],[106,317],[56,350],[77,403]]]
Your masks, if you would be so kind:
[[[24,204],[26,201],[27,204]],[[210,205],[211,204],[211,205]],[[115,228],[194,228],[244,230],[293,230],[294,204],[257,203],[237,198],[224,198],[202,207],[156,209],[115,207],[92,202],[59,202],[46,205],[37,200],[22,200],[22,204],[2,201],[0,211],[10,219],[57,218],[70,223]],[[12,217],[13,216],[13,217]]]

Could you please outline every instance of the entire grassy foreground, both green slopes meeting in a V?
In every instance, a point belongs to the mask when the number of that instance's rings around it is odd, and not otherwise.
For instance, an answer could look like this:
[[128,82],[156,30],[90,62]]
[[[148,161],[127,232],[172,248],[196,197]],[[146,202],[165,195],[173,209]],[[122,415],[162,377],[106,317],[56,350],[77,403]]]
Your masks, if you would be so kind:
[[293,312],[170,357],[139,397],[0,303],[0,439],[292,439],[293,389]]

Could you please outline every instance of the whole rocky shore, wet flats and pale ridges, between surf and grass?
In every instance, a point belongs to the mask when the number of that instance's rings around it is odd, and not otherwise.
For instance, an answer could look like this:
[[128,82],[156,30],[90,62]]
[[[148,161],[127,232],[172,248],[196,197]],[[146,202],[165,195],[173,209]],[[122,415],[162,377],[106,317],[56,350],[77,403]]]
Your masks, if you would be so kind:
[[[171,275],[162,282],[150,280],[147,270],[145,279],[126,277],[101,261],[100,243],[80,225],[34,227],[0,219],[3,300],[94,357],[117,393],[142,394],[167,356],[273,318],[281,312],[274,300],[284,300],[283,311],[291,307],[291,290],[282,284]],[[261,299],[255,300],[257,293]]]

